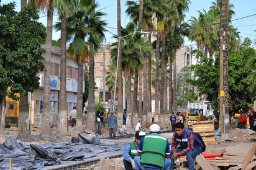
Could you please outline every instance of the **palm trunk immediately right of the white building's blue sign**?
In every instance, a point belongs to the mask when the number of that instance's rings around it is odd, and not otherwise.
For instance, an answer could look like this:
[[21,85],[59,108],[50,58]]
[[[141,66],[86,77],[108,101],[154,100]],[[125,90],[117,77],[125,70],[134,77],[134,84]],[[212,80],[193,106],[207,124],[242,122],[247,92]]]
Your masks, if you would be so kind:
[[60,56],[60,98],[58,102],[57,132],[60,135],[68,134],[66,123],[66,17],[62,17],[61,56]]

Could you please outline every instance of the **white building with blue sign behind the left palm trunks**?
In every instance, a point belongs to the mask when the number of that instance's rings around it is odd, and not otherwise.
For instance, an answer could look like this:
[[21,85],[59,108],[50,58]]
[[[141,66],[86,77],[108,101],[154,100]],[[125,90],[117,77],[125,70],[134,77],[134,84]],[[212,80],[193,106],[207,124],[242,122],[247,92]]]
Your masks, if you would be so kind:
[[[85,67],[84,67],[85,69]],[[74,60],[66,58],[66,112],[73,109],[77,101],[78,84],[78,65]],[[83,84],[83,89],[85,82]],[[60,91],[60,48],[52,47],[52,56],[50,57],[50,115],[51,125],[57,123],[58,117],[58,99]],[[84,91],[83,91],[84,92]],[[34,125],[42,124],[43,109],[43,73],[40,73],[39,89],[31,94],[30,99],[30,118]]]

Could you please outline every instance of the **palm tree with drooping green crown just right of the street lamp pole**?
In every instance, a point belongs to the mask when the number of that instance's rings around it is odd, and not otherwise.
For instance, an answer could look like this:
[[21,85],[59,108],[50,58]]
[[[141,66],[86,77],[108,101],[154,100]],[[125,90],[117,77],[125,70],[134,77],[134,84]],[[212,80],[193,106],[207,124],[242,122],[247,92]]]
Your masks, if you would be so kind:
[[[127,24],[126,29],[122,29],[122,35],[126,36],[134,32],[136,29],[136,24],[130,22]],[[139,71],[142,70],[142,66],[145,65],[145,61],[147,62],[146,54],[152,50],[151,43],[144,42],[144,39],[141,37],[142,34],[129,35],[124,40],[122,40],[122,69],[124,69],[124,76],[127,78],[127,106],[130,109],[134,108],[134,105],[131,104],[131,101],[137,102],[137,96],[135,99],[131,99],[131,79],[134,74],[135,77],[138,75]],[[117,43],[114,43],[117,47]],[[117,58],[117,48],[111,50],[111,56],[113,57],[113,61],[116,61]],[[118,84],[119,85],[119,84]],[[137,86],[134,83],[134,87]],[[135,92],[135,90],[134,90]],[[137,105],[137,104],[136,104]],[[137,123],[135,112],[132,112],[132,125]]]

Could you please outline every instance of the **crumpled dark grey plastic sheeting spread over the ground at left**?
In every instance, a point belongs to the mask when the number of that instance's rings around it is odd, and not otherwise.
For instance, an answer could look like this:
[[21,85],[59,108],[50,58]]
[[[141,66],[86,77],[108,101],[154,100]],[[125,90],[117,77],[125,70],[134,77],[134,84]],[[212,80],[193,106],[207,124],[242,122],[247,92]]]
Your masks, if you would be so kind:
[[40,145],[24,145],[20,140],[8,138],[0,144],[0,169],[9,169],[9,158],[12,158],[12,169],[37,169],[63,161],[85,161],[99,153],[123,149],[122,144],[80,134],[68,142]]

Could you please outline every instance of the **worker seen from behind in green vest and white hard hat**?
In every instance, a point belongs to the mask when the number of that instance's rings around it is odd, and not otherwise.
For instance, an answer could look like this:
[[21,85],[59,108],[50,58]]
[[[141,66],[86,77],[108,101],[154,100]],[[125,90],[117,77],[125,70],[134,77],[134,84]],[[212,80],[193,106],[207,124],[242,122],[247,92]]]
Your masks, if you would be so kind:
[[171,165],[169,141],[160,135],[160,126],[155,123],[150,125],[149,133],[140,140],[134,158],[136,169],[168,170]]

